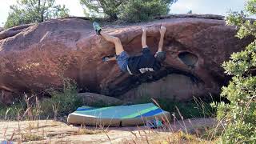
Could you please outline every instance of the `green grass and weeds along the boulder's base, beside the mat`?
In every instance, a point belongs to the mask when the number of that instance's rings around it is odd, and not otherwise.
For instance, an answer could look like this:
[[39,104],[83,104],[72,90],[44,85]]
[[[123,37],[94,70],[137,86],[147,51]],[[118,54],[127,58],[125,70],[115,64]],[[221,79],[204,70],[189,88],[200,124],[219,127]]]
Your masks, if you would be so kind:
[[[36,94],[14,102],[12,106],[1,106],[0,104],[0,118],[10,120],[34,120],[54,118],[54,120],[66,121],[66,115],[72,113],[82,106],[82,101],[78,98],[78,88],[76,83],[69,79],[63,78],[63,88],[61,90],[46,90],[51,98],[44,98],[39,100]],[[206,118],[215,117],[216,108],[210,106],[210,102],[203,102],[200,98],[194,98],[190,102],[178,102],[170,98],[155,98],[163,110],[169,111],[174,118],[180,119],[181,113],[183,118]],[[135,100],[135,103],[152,102],[151,98],[146,96],[146,92],[140,94],[140,98]],[[117,106],[107,105],[106,102],[94,102],[91,106],[105,107]],[[179,110],[179,111],[178,111]]]

